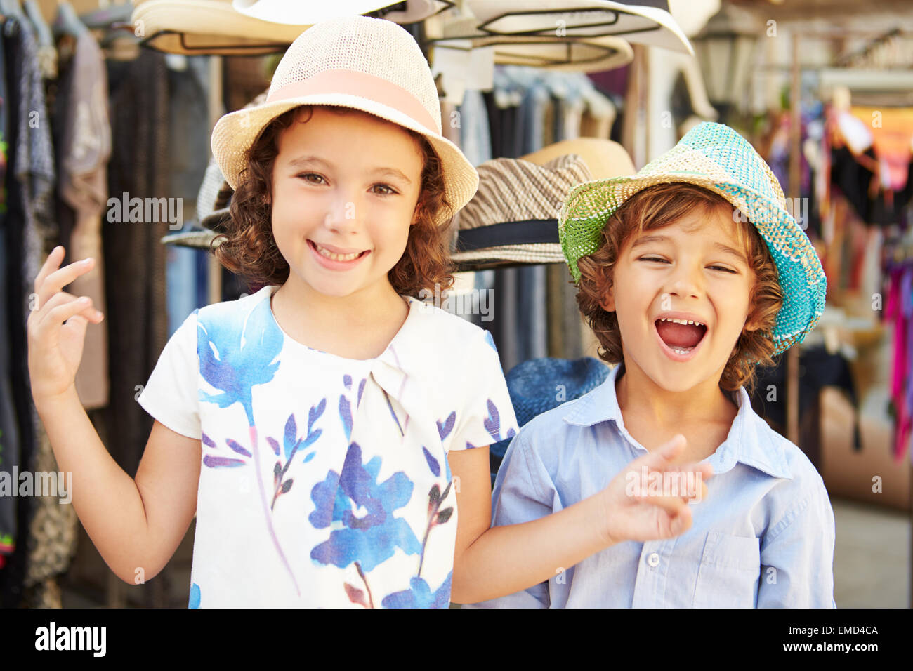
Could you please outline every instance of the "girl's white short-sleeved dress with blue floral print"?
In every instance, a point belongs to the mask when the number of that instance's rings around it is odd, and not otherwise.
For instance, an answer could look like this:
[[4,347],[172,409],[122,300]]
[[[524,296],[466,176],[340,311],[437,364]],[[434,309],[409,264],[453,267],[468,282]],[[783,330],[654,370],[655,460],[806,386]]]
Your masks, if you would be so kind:
[[343,359],[279,328],[277,288],[194,310],[139,397],[202,441],[190,607],[446,607],[447,453],[518,428],[490,334],[409,299]]

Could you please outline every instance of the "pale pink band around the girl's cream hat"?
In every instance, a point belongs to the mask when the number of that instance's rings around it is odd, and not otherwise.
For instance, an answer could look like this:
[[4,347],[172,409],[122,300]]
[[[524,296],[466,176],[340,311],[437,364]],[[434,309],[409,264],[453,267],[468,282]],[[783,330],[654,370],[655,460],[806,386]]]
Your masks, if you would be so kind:
[[425,106],[409,91],[382,77],[356,70],[323,70],[313,77],[293,81],[276,90],[270,90],[267,102],[291,100],[320,93],[350,95],[373,100],[412,118],[428,131],[440,134],[435,120]]

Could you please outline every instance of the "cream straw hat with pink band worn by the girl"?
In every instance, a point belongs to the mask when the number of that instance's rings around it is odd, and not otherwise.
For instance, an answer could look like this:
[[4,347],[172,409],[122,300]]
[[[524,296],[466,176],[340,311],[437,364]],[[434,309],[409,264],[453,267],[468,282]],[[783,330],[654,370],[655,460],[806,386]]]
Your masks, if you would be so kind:
[[[440,101],[425,56],[408,31],[391,21],[346,16],[315,24],[292,42],[278,64],[267,100],[226,114],[215,124],[213,156],[233,189],[259,133],[279,114],[299,105],[362,110],[416,131],[440,158],[446,198],[454,212],[476,193],[476,169],[441,133]],[[436,223],[449,220],[449,213],[442,210]]]

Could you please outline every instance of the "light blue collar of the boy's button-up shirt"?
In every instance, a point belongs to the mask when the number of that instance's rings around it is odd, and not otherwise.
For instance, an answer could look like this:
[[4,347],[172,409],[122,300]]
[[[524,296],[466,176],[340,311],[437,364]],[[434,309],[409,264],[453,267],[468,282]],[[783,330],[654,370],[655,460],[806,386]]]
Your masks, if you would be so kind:
[[[624,429],[624,419],[615,396],[615,378],[624,364],[616,365],[605,382],[569,405],[564,421],[570,425],[593,426],[614,421],[622,435],[634,439]],[[736,394],[739,412],[729,428],[726,441],[710,456],[708,462],[716,473],[722,473],[740,462],[755,467],[771,477],[792,479],[782,441],[774,439],[773,429],[751,408],[748,392],[739,387]]]

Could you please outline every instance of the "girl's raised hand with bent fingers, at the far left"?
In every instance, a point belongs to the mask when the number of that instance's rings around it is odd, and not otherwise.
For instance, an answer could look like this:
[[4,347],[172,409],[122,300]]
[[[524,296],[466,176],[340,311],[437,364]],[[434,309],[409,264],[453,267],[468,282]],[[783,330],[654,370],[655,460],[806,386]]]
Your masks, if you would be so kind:
[[91,299],[63,291],[70,282],[95,267],[95,260],[87,258],[60,267],[64,253],[62,246],[55,247],[38,272],[26,322],[28,374],[36,401],[65,393],[74,384],[86,327],[89,321],[98,324],[104,319],[92,307]]

